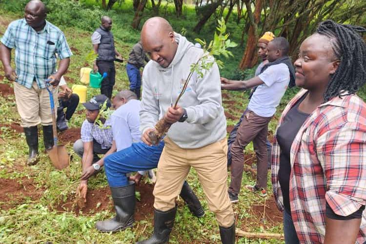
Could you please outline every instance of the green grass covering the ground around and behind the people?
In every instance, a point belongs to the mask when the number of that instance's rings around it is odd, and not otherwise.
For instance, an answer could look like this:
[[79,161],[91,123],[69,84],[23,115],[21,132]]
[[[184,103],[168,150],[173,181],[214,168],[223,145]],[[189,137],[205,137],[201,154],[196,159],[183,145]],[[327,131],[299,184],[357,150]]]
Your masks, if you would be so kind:
[[[93,7],[93,0],[84,0],[89,7]],[[0,4],[1,6],[1,4]],[[7,24],[14,19],[21,18],[20,12],[9,12],[5,8],[1,10],[0,7],[0,32],[4,33]],[[68,11],[61,9],[60,11]],[[71,10],[70,10],[71,11]],[[105,14],[102,10],[100,13]],[[99,13],[99,12],[98,12]],[[149,7],[144,12],[144,19],[151,14]],[[125,58],[128,56],[132,45],[139,39],[139,31],[133,30],[130,27],[130,22],[133,16],[131,10],[131,1],[126,0],[121,6],[116,4],[113,11],[108,14],[114,19],[113,33],[116,37],[116,47]],[[165,12],[163,12],[163,15]],[[183,10],[183,18],[177,19],[174,17],[171,4],[166,8],[167,18],[171,21],[176,30],[183,27],[188,30],[187,37],[193,40],[195,37],[206,38],[209,40],[212,36],[215,20],[209,20],[203,28],[200,35],[191,31],[197,21],[194,9],[186,6]],[[52,15],[50,16],[50,18]],[[57,19],[55,16],[52,18]],[[69,70],[65,76],[70,81],[68,85],[81,84],[79,81],[80,68],[85,66],[85,57],[91,50],[89,30],[85,30],[78,26],[59,26],[65,33],[70,47],[73,48],[74,56],[71,58]],[[228,24],[228,31],[233,40],[239,42],[241,36],[241,28],[243,26],[236,24]],[[221,71],[222,75],[228,76],[234,73],[240,61],[243,50],[238,47],[233,50],[236,54],[234,58],[224,60],[225,68]],[[125,63],[116,63],[116,87],[114,94],[117,91],[128,88],[128,79],[125,73]],[[3,75],[2,66],[0,66],[0,75]],[[6,84],[12,85],[7,81]],[[99,89],[88,89],[87,98],[94,94],[98,94]],[[293,92],[289,92],[293,93]],[[227,92],[229,98],[224,100],[235,101],[234,105],[224,105],[225,111],[230,111],[236,117],[240,117],[243,109],[247,105],[247,93],[241,92]],[[291,96],[289,94],[288,96]],[[281,108],[277,113],[283,109],[286,101],[281,104]],[[0,96],[0,123],[20,123],[20,117],[16,111],[15,97]],[[78,107],[77,112],[71,119],[70,127],[80,127],[84,120],[82,106]],[[228,119],[228,125],[235,125],[236,120]],[[270,131],[275,130],[276,121],[270,124]],[[104,220],[112,217],[114,212],[105,210],[95,214],[80,213],[76,216],[70,212],[58,212],[55,209],[61,201],[66,200],[69,195],[75,194],[77,185],[79,184],[79,177],[81,175],[80,158],[73,152],[72,145],[66,145],[69,152],[72,153],[73,159],[70,165],[70,171],[57,171],[53,169],[48,156],[43,152],[42,137],[40,136],[40,162],[32,167],[25,167],[24,162],[27,157],[27,145],[23,134],[16,133],[7,127],[1,128],[0,134],[0,178],[1,179],[16,179],[22,181],[24,179],[31,179],[36,188],[41,191],[41,198],[32,200],[25,198],[22,203],[7,210],[1,210],[0,213],[0,243],[134,243],[148,237],[152,233],[153,225],[152,219],[148,218],[140,222],[136,222],[134,228],[115,234],[105,234],[96,231],[94,225],[98,220]],[[246,148],[247,153],[253,153],[252,145]],[[170,243],[218,243],[220,240],[218,225],[212,212],[207,208],[207,202],[204,198],[203,190],[198,181],[196,172],[192,169],[188,175],[188,182],[191,184],[194,191],[202,201],[206,210],[206,215],[203,219],[197,220],[193,217],[188,208],[183,206],[182,201],[179,202],[178,214],[176,217],[176,224],[171,234]],[[229,179],[228,179],[229,182]],[[250,173],[243,174],[243,186],[246,184],[253,184],[255,179]],[[270,179],[268,178],[270,184]],[[97,189],[107,187],[107,181],[103,174],[99,174],[89,180],[89,188]],[[271,186],[268,186],[271,189]],[[270,191],[270,190],[269,190]],[[270,192],[269,192],[270,195]],[[264,200],[254,194],[249,193],[242,188],[240,195],[241,201],[234,205],[234,211],[238,218],[237,226],[246,226],[247,231],[265,231],[273,233],[283,233],[281,224],[272,226],[269,229],[264,229],[262,225],[258,225],[260,221],[255,220],[251,215],[250,208],[253,205],[263,205]],[[1,206],[6,206],[9,202],[0,202]],[[97,206],[96,206],[97,207]],[[252,223],[253,221],[253,223]],[[249,223],[249,224],[248,224]],[[264,225],[265,226],[265,225]],[[262,243],[279,243],[277,240],[258,240],[239,238],[238,243],[242,244],[262,244]]]

